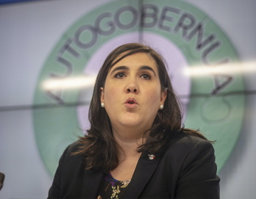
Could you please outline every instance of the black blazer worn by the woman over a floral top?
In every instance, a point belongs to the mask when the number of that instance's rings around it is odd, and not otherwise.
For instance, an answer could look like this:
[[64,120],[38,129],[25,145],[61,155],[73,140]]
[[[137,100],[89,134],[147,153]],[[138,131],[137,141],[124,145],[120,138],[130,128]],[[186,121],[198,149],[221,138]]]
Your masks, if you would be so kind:
[[[65,149],[49,198],[97,198],[102,172],[85,170],[84,156],[71,156],[78,142]],[[123,198],[219,198],[213,145],[192,135],[173,134],[165,153],[142,153]]]

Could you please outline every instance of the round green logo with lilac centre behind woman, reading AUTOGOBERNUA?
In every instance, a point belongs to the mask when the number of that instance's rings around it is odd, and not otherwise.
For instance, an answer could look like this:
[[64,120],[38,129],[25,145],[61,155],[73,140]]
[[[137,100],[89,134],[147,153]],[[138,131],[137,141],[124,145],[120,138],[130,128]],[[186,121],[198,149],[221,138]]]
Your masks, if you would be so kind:
[[[36,140],[51,175],[64,148],[88,129],[93,80],[103,60],[123,43],[152,46],[169,65],[187,128],[216,140],[218,171],[243,123],[243,79],[232,72],[238,55],[204,12],[176,0],[113,1],[91,10],[63,34],[46,59],[35,89]],[[212,70],[212,69],[227,70]],[[209,69],[210,72],[201,73]],[[186,76],[185,71],[191,71]],[[194,72],[199,71],[199,72]]]

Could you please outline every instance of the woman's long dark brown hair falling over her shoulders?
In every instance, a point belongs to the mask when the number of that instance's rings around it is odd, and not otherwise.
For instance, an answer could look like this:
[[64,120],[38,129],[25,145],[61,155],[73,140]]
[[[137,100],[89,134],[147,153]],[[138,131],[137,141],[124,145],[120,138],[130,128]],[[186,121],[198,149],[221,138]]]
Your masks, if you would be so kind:
[[89,109],[90,129],[87,131],[88,134],[86,134],[85,137],[80,137],[79,141],[81,142],[81,147],[80,151],[77,151],[77,153],[85,154],[87,169],[102,169],[107,172],[118,166],[116,149],[119,146],[113,138],[110,118],[105,109],[100,106],[100,88],[104,87],[107,73],[113,65],[121,59],[124,59],[124,57],[136,53],[145,53],[154,59],[157,63],[161,89],[162,91],[167,90],[164,109],[157,112],[152,128],[148,130],[150,132],[149,137],[146,142],[138,148],[138,152],[162,152],[168,142],[168,137],[171,137],[172,133],[179,131],[194,134],[206,140],[198,131],[182,128],[182,115],[179,102],[171,85],[163,57],[149,46],[145,46],[141,43],[127,43],[115,48],[115,50],[107,56],[96,78]]

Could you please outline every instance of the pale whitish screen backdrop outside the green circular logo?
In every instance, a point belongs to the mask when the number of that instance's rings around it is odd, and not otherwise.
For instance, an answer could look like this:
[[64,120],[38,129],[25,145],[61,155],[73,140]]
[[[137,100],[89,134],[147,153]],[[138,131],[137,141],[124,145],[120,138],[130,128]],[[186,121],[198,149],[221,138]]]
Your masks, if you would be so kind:
[[[46,198],[52,177],[35,142],[32,109],[18,106],[33,104],[40,70],[63,32],[85,12],[106,2],[37,1],[0,7],[0,172],[6,175],[0,198]],[[255,0],[186,2],[218,23],[243,62],[255,62]],[[256,90],[256,73],[243,77],[246,90]],[[245,107],[241,137],[219,173],[221,198],[256,195],[256,95],[246,95]]]

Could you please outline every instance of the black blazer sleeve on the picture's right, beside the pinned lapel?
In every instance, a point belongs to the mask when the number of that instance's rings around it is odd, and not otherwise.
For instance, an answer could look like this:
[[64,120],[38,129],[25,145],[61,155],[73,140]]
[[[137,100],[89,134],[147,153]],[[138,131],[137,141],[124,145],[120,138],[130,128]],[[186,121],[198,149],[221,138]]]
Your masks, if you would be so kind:
[[219,198],[213,145],[200,140],[191,148],[182,163],[175,198]]

